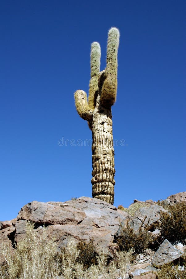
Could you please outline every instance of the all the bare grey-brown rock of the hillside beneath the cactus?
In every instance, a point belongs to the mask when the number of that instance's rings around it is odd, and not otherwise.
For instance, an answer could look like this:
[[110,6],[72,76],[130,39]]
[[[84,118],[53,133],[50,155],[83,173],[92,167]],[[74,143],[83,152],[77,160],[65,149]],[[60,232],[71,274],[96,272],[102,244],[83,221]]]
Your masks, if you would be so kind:
[[[185,193],[172,195],[165,202],[185,201]],[[15,243],[25,235],[25,224],[28,220],[34,222],[38,237],[45,226],[48,236],[56,240],[59,250],[70,239],[74,239],[75,242],[81,240],[88,242],[93,239],[98,252],[105,250],[114,255],[117,246],[113,243],[114,238],[121,236],[121,229],[125,227],[127,220],[136,233],[141,225],[145,227],[148,223],[151,236],[154,239],[159,237],[160,245],[163,239],[161,231],[155,228],[155,224],[160,222],[160,211],[167,210],[151,200],[146,202],[134,200],[134,203],[144,204],[144,207],[137,208],[131,216],[105,201],[89,197],[66,202],[32,201],[21,208],[17,218],[0,222],[0,249],[3,244],[12,246],[12,251],[14,250]],[[185,251],[186,245],[177,243],[173,246],[166,239],[159,248],[156,245],[155,250],[148,248],[137,255],[134,263],[128,266],[126,272],[129,276],[126,278],[156,278],[156,273],[164,263],[174,262]],[[0,263],[3,261],[4,258],[0,256]]]

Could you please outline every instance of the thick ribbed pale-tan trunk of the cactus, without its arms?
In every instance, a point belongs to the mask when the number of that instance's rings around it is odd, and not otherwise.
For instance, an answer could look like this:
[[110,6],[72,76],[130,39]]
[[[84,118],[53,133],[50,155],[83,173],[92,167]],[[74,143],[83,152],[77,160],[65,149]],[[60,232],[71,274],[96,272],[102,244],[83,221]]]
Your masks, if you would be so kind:
[[114,203],[114,148],[111,108],[105,108],[100,93],[92,121],[92,197]]

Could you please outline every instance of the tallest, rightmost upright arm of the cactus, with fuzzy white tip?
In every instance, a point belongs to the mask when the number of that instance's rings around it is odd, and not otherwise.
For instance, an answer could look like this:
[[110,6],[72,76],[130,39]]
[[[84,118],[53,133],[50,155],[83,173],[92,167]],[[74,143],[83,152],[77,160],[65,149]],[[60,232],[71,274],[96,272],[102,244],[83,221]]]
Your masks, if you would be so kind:
[[112,27],[108,32],[107,66],[105,70],[105,81],[101,91],[101,101],[106,108],[110,108],[116,101],[119,37],[119,30]]

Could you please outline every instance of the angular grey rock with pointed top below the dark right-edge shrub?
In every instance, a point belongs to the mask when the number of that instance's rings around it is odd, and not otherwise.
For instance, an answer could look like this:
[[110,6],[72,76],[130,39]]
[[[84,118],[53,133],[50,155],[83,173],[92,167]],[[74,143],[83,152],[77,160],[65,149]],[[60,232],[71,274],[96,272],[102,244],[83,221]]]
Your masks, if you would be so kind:
[[171,263],[173,260],[180,258],[183,254],[182,251],[176,249],[165,239],[155,252],[151,263],[157,267],[161,267],[165,263]]

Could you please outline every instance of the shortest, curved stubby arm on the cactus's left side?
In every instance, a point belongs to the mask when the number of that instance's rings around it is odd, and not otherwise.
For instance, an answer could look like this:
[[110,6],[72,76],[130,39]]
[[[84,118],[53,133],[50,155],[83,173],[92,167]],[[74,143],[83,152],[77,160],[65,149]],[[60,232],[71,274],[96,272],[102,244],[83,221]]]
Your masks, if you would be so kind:
[[76,110],[79,116],[82,119],[91,122],[93,118],[93,110],[89,107],[87,103],[87,93],[83,90],[77,90],[74,93],[74,98]]

